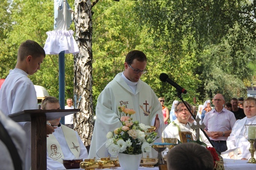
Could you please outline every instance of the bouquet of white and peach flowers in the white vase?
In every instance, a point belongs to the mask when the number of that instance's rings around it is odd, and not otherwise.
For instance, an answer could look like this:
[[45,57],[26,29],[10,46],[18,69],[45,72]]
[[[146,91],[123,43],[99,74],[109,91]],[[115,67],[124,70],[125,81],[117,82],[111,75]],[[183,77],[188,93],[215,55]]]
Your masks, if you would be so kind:
[[157,133],[145,134],[148,130],[147,126],[138,121],[132,121],[130,117],[135,113],[134,110],[126,109],[124,106],[118,109],[122,126],[107,133],[108,152],[111,155],[117,155],[119,152],[132,155],[151,152],[150,143],[159,138]]

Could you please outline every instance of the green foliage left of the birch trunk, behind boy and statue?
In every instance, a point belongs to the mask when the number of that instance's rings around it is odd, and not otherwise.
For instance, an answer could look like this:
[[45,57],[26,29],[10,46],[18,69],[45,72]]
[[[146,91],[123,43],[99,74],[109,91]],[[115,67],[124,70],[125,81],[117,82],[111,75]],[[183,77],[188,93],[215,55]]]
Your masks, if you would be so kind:
[[[70,0],[68,0],[70,1]],[[72,3],[70,3],[72,4]],[[53,0],[4,0],[0,16],[0,75],[6,78],[16,64],[19,45],[32,39],[42,47],[46,32],[53,30]],[[71,5],[70,5],[71,6]],[[8,15],[6,15],[6,11]],[[4,26],[4,27],[3,27]],[[73,24],[70,27],[73,28]],[[2,33],[3,31],[3,33]],[[51,96],[59,98],[59,57],[46,55],[41,70],[30,76],[34,85],[44,86]],[[73,56],[65,55],[65,97],[73,98]]]

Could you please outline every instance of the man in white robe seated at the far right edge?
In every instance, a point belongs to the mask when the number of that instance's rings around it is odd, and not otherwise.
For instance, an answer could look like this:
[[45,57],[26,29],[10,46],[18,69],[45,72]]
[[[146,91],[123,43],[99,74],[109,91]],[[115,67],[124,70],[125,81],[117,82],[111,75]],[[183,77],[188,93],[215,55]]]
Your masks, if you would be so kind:
[[[244,137],[245,125],[256,124],[256,98],[248,97],[244,101],[244,113],[246,117],[238,119],[231,131],[230,136],[226,140],[227,149],[237,148],[237,155],[234,151],[230,152],[228,157],[231,159],[247,160],[251,158],[249,151],[250,142]],[[256,154],[255,154],[256,155]]]

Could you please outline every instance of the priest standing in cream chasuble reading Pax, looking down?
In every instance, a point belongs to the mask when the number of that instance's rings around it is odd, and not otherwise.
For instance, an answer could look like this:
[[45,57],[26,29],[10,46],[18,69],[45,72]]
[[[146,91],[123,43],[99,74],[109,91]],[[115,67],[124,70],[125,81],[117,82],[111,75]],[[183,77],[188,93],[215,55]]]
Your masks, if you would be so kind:
[[[156,126],[161,137],[164,128],[162,107],[152,88],[140,80],[146,72],[146,55],[137,50],[128,53],[125,60],[125,71],[104,88],[97,99],[96,122],[89,151],[89,158],[108,157],[105,142],[106,134],[122,126],[118,107],[133,109],[132,120],[148,126]],[[161,142],[159,138],[156,142]],[[152,149],[154,152],[154,149]],[[155,155],[157,157],[157,153]]]

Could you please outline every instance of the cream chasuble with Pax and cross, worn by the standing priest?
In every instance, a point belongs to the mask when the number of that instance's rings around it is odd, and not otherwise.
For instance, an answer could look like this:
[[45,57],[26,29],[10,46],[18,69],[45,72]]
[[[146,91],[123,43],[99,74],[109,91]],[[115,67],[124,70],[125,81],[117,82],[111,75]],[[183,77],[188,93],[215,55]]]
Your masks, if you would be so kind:
[[[159,137],[161,136],[164,123],[162,108],[158,97],[152,88],[141,80],[137,82],[136,91],[133,92],[121,75],[122,73],[118,73],[98,96],[96,122],[89,158],[108,157],[108,149],[105,147],[107,140],[106,134],[122,126],[119,120],[120,115],[118,107],[120,106],[133,109],[136,113],[131,115],[132,120],[137,120],[145,125],[153,126],[156,114],[158,114],[160,127],[157,133]],[[158,140],[160,142],[161,138]]]

